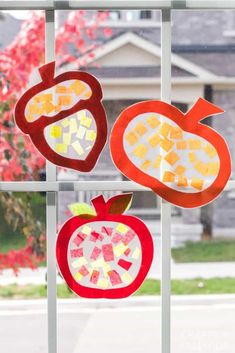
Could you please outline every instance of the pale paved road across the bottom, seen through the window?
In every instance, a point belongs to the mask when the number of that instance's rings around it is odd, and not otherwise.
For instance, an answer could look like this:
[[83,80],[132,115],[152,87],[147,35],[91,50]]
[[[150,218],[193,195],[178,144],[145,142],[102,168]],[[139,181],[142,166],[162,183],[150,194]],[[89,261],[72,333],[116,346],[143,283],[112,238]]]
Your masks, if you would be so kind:
[[[235,304],[178,302],[172,353],[232,353]],[[160,307],[59,305],[59,353],[160,353]],[[45,305],[0,306],[1,353],[46,353]]]

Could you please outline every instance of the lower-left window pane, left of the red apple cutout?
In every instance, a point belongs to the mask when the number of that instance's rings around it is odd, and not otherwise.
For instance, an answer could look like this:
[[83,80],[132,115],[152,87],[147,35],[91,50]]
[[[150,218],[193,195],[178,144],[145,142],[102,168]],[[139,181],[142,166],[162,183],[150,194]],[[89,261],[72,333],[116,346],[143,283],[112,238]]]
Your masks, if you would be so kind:
[[45,211],[45,194],[0,193],[0,341],[4,353],[47,350]]

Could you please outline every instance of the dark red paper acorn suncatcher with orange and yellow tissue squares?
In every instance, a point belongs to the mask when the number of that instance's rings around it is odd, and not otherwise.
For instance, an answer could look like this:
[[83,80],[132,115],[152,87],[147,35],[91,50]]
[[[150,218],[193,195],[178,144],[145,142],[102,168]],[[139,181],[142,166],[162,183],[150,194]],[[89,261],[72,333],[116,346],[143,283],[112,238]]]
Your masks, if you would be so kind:
[[17,126],[52,163],[81,172],[92,170],[107,139],[99,82],[82,71],[54,76],[55,62],[42,66],[39,72],[42,81],[16,104]]

